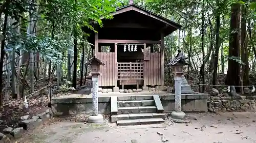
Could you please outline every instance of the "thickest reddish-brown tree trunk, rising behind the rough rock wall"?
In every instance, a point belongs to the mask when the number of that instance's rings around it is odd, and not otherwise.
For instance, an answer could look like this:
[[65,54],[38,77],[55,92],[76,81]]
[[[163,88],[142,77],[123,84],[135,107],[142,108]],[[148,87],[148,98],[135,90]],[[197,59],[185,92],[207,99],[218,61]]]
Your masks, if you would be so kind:
[[[231,6],[227,85],[240,85],[240,64],[231,59],[240,58],[240,7],[239,3]],[[240,88],[236,87],[236,91],[240,92]]]

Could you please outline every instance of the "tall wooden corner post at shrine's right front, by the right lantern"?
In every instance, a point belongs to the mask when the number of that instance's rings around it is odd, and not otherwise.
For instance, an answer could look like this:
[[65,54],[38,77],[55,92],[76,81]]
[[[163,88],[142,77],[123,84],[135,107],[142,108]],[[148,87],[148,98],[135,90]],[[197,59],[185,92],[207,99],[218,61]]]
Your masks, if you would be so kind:
[[161,31],[161,85],[164,86],[164,34]]

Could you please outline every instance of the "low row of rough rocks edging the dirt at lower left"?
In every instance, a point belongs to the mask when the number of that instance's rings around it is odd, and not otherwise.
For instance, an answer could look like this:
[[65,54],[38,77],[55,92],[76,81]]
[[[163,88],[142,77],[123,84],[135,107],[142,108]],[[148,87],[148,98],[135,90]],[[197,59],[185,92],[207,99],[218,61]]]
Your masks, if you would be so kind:
[[30,117],[29,115],[20,117],[20,122],[18,128],[8,127],[0,132],[0,142],[10,143],[12,140],[20,138],[24,135],[26,130],[33,130],[37,126],[41,125],[43,121],[50,118],[49,109],[42,112],[36,116]]

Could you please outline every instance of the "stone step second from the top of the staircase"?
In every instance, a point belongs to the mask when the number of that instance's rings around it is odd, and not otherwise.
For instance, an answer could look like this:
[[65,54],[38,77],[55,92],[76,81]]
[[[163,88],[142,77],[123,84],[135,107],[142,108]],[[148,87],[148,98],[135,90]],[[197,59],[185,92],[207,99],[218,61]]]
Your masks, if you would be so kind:
[[154,106],[154,100],[126,100],[117,101],[118,107],[131,107],[131,106]]

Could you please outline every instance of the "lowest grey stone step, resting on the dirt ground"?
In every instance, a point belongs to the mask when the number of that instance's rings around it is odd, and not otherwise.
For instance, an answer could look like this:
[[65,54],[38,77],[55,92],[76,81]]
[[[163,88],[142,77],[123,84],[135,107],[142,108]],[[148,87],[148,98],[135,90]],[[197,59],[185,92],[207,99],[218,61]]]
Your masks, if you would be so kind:
[[119,120],[116,123],[118,126],[130,126],[130,125],[159,124],[159,123],[164,123],[164,120],[162,118],[150,118],[150,119]]

